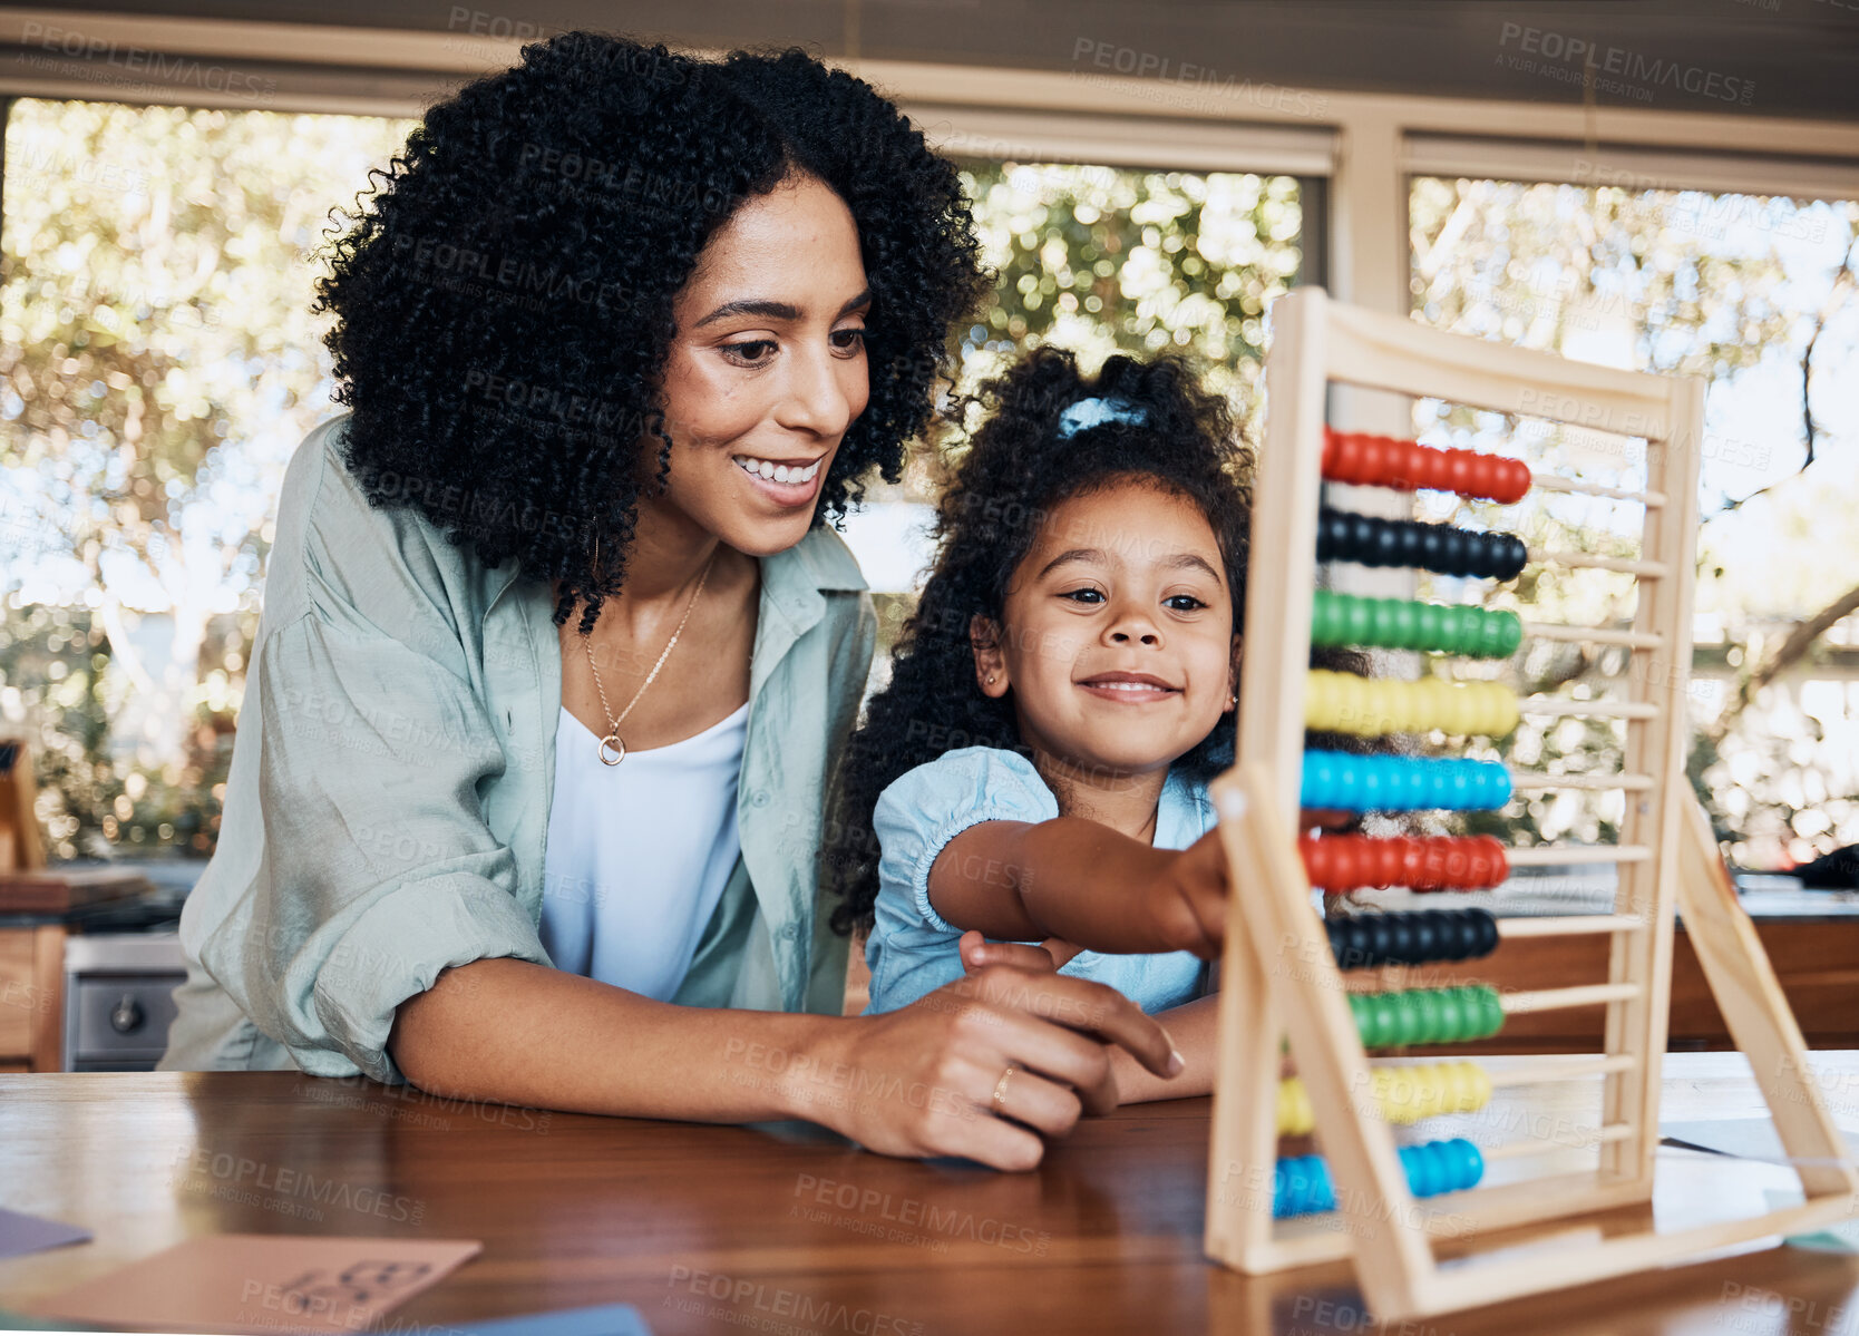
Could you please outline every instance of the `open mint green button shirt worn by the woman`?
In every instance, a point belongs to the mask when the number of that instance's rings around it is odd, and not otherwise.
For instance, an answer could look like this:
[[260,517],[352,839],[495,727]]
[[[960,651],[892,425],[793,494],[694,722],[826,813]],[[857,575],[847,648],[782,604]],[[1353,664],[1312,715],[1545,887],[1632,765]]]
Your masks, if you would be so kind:
[[[219,844],[180,916],[188,981],[164,1070],[402,1081],[394,1009],[441,970],[550,964],[548,585],[485,567],[418,511],[370,505],[342,463],[346,422],[316,427],[284,476]],[[742,855],[673,1002],[837,1015],[846,940],[827,927],[818,845],[877,619],[831,530],[760,565]]]

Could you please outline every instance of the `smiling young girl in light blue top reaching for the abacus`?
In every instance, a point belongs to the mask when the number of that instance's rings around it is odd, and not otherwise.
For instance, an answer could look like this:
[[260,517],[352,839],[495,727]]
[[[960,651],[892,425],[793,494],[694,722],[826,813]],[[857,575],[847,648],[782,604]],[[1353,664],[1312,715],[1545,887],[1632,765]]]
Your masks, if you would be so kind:
[[1123,1098],[1205,1093],[1247,452],[1169,357],[1086,379],[1047,347],[978,398],[935,569],[848,749],[835,925],[868,931],[872,1013],[1058,938],[1061,974],[1171,1013],[1186,1070],[1117,1063]]

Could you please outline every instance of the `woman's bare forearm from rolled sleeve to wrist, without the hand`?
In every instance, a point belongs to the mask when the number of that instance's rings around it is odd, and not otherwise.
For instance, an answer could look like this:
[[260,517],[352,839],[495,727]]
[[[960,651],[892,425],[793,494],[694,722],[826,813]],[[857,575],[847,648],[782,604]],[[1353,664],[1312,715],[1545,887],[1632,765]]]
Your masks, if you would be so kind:
[[653,1002],[528,961],[446,970],[400,1005],[389,1052],[435,1094],[693,1122],[803,1117],[831,1094],[837,1016]]

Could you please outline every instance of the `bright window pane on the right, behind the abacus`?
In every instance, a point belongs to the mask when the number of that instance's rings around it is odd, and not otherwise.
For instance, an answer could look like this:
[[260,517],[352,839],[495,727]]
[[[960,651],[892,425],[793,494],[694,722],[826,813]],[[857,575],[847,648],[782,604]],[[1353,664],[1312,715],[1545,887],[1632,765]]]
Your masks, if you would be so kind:
[[[1850,518],[1859,502],[1859,303],[1848,299],[1859,204],[1418,178],[1409,206],[1413,308],[1426,323],[1710,379],[1692,773],[1747,866],[1792,866],[1859,840],[1853,619],[1753,704],[1736,704],[1751,669],[1801,619],[1837,609],[1859,587]],[[1563,472],[1643,483],[1643,452],[1617,437],[1428,401],[1415,427],[1435,444],[1547,455]],[[1554,498],[1526,518],[1526,537],[1612,552],[1638,524],[1636,507]],[[1630,589],[1589,576],[1602,572],[1536,580],[1537,615],[1588,624],[1632,615]],[[1619,686],[1623,656],[1554,648],[1523,660],[1524,689],[1575,684],[1601,695]],[[1526,719],[1504,751],[1532,767],[1565,758],[1580,767],[1584,756],[1617,756],[1621,736],[1621,725]],[[1610,795],[1612,810],[1573,797],[1532,801],[1530,823],[1547,838],[1612,838],[1619,795]]]

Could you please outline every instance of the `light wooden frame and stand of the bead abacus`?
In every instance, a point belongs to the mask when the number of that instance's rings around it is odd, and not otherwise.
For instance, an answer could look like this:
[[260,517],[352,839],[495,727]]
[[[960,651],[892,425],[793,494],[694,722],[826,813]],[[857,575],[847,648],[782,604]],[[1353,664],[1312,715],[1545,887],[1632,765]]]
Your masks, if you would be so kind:
[[[1234,896],[1221,963],[1220,1050],[1206,1195],[1206,1254],[1246,1273],[1351,1258],[1381,1319],[1428,1316],[1560,1290],[1813,1228],[1859,1206],[1859,1174],[1813,1083],[1800,1026],[1718,858],[1708,821],[1684,779],[1684,693],[1703,440],[1701,379],[1656,377],[1571,362],[1426,329],[1398,316],[1333,303],[1299,288],[1273,307],[1266,364],[1268,418],[1253,496],[1255,569],[1272,580],[1247,593],[1247,661],[1240,686],[1238,764],[1214,782]],[[1627,725],[1627,773],[1651,775],[1628,793],[1621,845],[1651,857],[1619,864],[1608,979],[1632,996],[1608,1003],[1602,1124],[1625,1133],[1601,1145],[1591,1172],[1478,1187],[1417,1206],[1381,1109],[1368,1057],[1327,938],[1311,912],[1296,851],[1303,693],[1316,589],[1316,515],[1329,383],[1430,396],[1547,418],[1647,442],[1641,556],[1664,574],[1640,582],[1628,695],[1653,706]],[[1686,931],[1733,1039],[1749,1055],[1786,1154],[1800,1161],[1801,1206],[1708,1226],[1647,1228],[1519,1262],[1439,1267],[1433,1236],[1558,1221],[1649,1204],[1658,1143],[1658,1081],[1671,987],[1673,912]],[[1627,989],[1623,989],[1625,992]],[[1286,1232],[1272,1219],[1279,1037],[1316,1115],[1342,1219],[1324,1232]],[[1813,1163],[1818,1161],[1818,1163]]]

